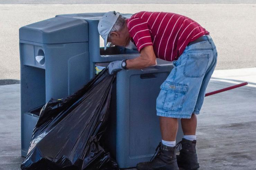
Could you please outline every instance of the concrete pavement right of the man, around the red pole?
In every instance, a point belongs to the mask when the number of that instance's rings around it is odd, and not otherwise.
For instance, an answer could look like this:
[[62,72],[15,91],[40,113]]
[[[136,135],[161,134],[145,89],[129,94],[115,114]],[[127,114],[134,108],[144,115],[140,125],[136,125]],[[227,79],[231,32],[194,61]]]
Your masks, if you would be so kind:
[[214,71],[207,91],[249,84],[205,98],[198,116],[198,152],[209,169],[255,169],[256,68]]

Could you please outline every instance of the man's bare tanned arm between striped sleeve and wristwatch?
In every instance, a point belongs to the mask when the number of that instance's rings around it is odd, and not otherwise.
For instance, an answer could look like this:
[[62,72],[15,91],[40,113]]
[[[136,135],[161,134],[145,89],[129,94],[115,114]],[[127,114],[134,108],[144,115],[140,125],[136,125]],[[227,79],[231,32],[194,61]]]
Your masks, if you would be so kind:
[[145,46],[140,50],[140,56],[135,59],[126,60],[126,67],[128,69],[145,68],[156,64],[156,56],[153,46]]

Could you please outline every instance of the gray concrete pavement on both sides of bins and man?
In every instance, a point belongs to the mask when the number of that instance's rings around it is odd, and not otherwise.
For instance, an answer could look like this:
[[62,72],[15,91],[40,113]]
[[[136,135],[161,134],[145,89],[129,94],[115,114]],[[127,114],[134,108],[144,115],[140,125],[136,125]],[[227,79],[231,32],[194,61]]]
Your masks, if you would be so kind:
[[[249,84],[205,97],[198,116],[200,170],[256,169],[256,68],[216,70],[211,92]],[[0,86],[0,170],[18,170],[20,157],[20,85]]]

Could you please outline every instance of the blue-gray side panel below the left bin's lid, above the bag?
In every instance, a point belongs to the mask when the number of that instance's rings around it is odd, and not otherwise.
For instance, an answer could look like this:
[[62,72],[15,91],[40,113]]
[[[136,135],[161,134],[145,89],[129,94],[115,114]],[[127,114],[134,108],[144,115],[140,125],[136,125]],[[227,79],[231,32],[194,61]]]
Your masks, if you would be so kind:
[[88,43],[45,44],[44,47],[47,49],[46,102],[71,95],[88,83]]

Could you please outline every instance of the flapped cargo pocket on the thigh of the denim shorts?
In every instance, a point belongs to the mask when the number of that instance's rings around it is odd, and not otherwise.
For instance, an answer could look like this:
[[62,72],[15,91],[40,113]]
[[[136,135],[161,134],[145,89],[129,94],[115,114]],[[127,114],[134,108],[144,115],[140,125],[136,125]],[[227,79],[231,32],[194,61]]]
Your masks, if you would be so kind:
[[160,88],[161,91],[156,102],[157,108],[165,111],[181,112],[188,86],[165,81]]

